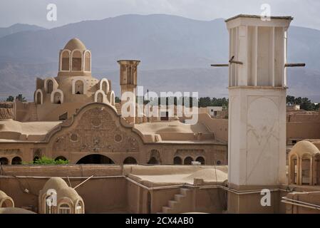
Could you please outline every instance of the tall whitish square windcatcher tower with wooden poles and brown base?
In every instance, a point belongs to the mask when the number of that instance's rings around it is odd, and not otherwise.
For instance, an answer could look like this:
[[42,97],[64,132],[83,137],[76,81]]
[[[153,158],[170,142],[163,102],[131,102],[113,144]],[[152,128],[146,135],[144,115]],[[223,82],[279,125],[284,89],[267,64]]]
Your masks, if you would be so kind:
[[[239,15],[229,31],[229,188],[274,189],[286,182],[287,29],[290,16]],[[274,212],[256,195],[228,195],[229,212]],[[248,200],[252,203],[248,204]],[[273,195],[274,197],[274,195]],[[247,202],[247,203],[242,203]],[[273,205],[272,205],[273,206]],[[250,209],[251,208],[251,209]]]

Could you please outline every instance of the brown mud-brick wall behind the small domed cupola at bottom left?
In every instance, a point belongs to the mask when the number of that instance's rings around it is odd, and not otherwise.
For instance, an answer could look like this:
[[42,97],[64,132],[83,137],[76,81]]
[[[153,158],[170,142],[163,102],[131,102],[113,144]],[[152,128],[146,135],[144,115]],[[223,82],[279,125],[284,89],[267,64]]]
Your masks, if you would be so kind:
[[[29,207],[38,212],[38,194],[49,177],[63,177],[71,187],[95,175],[76,188],[83,198],[86,213],[128,211],[126,180],[116,165],[71,165],[71,166],[3,166],[0,190],[14,199],[16,207]],[[19,177],[14,177],[19,176]],[[42,176],[42,177],[41,177]],[[29,194],[24,192],[29,190]]]

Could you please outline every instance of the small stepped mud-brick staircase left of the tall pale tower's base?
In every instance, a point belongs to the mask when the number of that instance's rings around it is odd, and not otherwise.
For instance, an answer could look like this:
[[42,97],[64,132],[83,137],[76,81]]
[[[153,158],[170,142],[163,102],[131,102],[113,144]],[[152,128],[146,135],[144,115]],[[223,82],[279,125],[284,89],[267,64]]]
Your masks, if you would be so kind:
[[192,191],[180,188],[180,194],[168,201],[167,206],[162,207],[161,214],[178,214],[193,211]]

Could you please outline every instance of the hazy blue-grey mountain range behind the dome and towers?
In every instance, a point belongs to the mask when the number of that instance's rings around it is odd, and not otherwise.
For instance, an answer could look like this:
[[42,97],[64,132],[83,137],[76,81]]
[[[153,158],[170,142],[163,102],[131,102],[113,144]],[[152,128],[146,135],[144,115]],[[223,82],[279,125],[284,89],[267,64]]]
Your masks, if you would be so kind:
[[[18,27],[0,28],[0,100],[18,93],[33,100],[36,77],[56,76],[59,50],[73,37],[91,50],[93,76],[110,79],[116,95],[120,91],[116,61],[134,58],[141,61],[138,84],[145,91],[227,96],[227,69],[210,67],[228,60],[224,19],[130,14],[51,29]],[[306,68],[289,69],[288,93],[320,102],[320,31],[291,26],[288,50],[289,62],[306,63]]]

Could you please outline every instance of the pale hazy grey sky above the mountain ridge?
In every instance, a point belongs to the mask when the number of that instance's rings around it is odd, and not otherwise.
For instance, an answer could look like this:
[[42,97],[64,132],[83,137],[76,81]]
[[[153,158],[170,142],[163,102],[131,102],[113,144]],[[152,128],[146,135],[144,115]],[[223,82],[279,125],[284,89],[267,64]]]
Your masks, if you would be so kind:
[[[57,21],[47,21],[48,4],[56,4]],[[261,14],[262,4],[272,15],[294,16],[293,24],[320,29],[319,0],[1,0],[0,27],[16,23],[47,28],[122,14],[173,14],[212,20],[237,14]]]

